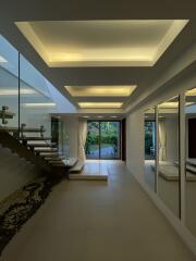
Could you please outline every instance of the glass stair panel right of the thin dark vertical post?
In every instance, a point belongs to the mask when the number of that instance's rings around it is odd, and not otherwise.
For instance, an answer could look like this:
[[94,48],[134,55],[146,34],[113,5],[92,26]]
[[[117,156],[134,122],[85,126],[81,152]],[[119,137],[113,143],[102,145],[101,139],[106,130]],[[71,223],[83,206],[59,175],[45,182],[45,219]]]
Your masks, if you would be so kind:
[[[21,126],[24,128],[42,128],[44,136],[51,136],[51,115],[57,112],[56,103],[50,97],[45,77],[23,57],[21,64]],[[26,133],[35,136],[35,133]],[[40,133],[37,133],[39,136]]]

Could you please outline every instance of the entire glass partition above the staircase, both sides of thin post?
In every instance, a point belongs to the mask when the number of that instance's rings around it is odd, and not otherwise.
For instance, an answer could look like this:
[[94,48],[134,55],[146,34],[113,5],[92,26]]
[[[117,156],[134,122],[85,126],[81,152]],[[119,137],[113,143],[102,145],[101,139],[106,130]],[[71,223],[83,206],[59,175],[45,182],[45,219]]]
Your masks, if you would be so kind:
[[0,35],[0,128],[51,137],[57,112],[47,79]]

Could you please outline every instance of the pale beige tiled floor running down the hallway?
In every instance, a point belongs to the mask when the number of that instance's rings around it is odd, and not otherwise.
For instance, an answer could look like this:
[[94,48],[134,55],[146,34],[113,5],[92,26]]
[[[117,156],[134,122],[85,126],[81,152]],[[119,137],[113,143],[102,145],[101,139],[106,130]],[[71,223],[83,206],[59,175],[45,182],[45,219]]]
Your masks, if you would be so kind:
[[59,184],[0,260],[196,260],[125,166],[108,170],[108,183]]

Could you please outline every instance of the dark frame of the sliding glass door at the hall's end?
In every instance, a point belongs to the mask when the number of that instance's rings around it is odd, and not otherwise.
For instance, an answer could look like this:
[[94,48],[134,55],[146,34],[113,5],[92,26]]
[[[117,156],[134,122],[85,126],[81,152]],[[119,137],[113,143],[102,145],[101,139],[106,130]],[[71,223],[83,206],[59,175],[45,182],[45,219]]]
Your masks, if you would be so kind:
[[[122,135],[122,124],[121,124],[121,120],[87,120],[87,124],[89,123],[89,122],[98,122],[99,123],[99,144],[98,144],[98,146],[99,146],[99,157],[97,157],[97,158],[90,158],[90,157],[86,157],[86,159],[87,160],[121,160],[121,154],[122,154],[122,144],[121,144],[121,139],[122,139],[122,137],[121,137],[121,135]],[[119,157],[117,157],[117,158],[103,158],[103,157],[101,157],[101,128],[100,128],[100,123],[101,122],[118,122],[119,123],[119,130],[120,130],[120,135],[119,135],[119,149],[120,149],[120,152],[119,152]]]

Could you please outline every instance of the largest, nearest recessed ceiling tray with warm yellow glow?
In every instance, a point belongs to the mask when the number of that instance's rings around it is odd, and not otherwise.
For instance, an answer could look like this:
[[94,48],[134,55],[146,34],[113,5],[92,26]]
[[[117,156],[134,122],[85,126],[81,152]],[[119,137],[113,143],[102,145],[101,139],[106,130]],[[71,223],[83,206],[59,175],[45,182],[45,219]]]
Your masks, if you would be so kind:
[[50,67],[154,66],[187,22],[45,21],[16,26]]

